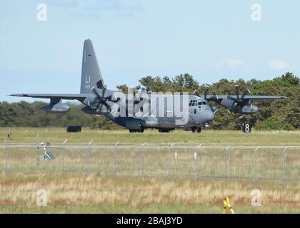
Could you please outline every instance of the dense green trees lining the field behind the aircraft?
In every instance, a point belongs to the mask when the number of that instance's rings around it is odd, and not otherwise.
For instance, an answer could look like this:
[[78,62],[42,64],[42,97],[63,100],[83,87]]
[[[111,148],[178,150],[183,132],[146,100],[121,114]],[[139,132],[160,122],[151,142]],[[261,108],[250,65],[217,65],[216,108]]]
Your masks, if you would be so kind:
[[[146,76],[139,80],[140,85],[134,88],[145,90],[146,92],[189,92],[194,93],[198,90],[203,92],[205,86],[209,86],[209,93],[214,94],[234,94],[234,85],[239,84],[241,91],[249,88],[251,94],[255,95],[285,95],[289,100],[262,100],[254,102],[259,105],[259,113],[246,115],[239,118],[240,115],[229,113],[225,108],[220,108],[216,114],[211,128],[214,129],[239,129],[245,120],[251,121],[256,129],[267,130],[294,130],[300,128],[300,79],[293,73],[286,73],[283,76],[268,81],[228,81],[221,79],[211,85],[200,85],[193,76],[181,74],[174,78]],[[127,92],[128,86],[117,86],[118,90]],[[54,114],[44,113],[40,108],[45,105],[42,102],[27,103],[0,103],[0,126],[20,126],[20,127],[46,127],[67,125],[82,125],[90,128],[117,129],[119,126],[111,123],[104,116],[87,115],[81,113],[81,105],[71,104],[69,113]]]

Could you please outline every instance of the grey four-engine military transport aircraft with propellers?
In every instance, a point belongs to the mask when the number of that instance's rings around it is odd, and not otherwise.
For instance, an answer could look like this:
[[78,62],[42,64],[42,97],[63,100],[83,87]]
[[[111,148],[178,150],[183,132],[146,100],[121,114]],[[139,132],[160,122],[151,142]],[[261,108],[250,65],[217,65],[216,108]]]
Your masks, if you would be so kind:
[[[194,95],[186,95],[186,104],[183,102],[184,98],[182,98],[184,95],[180,95],[180,102],[173,98],[171,105],[162,106],[162,115],[132,115],[129,112],[130,105],[136,106],[146,100],[151,103],[154,101],[154,97],[149,95],[149,97],[144,99],[141,95],[129,96],[127,94],[123,99],[120,97],[116,98],[114,95],[116,92],[109,90],[104,85],[93,44],[90,39],[87,39],[84,41],[80,94],[11,94],[11,96],[49,98],[50,104],[42,109],[52,113],[66,113],[70,110],[70,106],[62,103],[62,100],[79,100],[85,105],[81,109],[82,112],[91,115],[105,115],[114,123],[128,128],[131,133],[142,133],[146,128],[155,128],[161,133],[169,133],[169,131],[174,129],[191,130],[193,133],[200,133],[201,128],[209,126],[209,123],[214,120],[214,114],[218,112],[218,108],[211,106],[210,101],[224,106],[229,112],[252,114],[256,113],[259,108],[256,105],[252,105],[251,100],[286,99],[283,96],[247,95],[249,90],[239,95],[239,86],[236,86],[235,95],[208,95],[207,92],[208,90],[205,91],[204,95],[199,95],[195,91]],[[157,95],[158,98],[159,96],[161,95]],[[157,97],[155,97],[155,100]],[[121,100],[124,102],[120,103]],[[174,112],[173,106],[177,103],[181,103],[179,106],[181,110],[184,110],[184,115],[169,115]],[[154,108],[158,107],[156,103],[154,104]],[[140,105],[139,110],[142,110],[143,107],[145,106]],[[120,108],[126,110],[126,115],[116,115]],[[181,121],[178,122],[178,120]]]

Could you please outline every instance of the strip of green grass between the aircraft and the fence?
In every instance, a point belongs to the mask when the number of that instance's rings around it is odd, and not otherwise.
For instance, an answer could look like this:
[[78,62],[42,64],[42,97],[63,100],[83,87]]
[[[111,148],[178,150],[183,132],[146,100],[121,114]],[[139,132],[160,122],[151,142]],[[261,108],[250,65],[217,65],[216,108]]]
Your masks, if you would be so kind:
[[[65,128],[0,128],[0,137],[6,138],[7,133],[13,137],[9,143],[36,143],[39,135],[41,141],[62,143],[94,144],[139,144],[139,143],[171,143],[191,145],[300,145],[300,131],[256,131],[251,134],[239,130],[203,130],[194,134],[183,130],[172,133],[158,133],[157,130],[146,130],[144,133],[129,133],[127,130],[90,130],[84,128],[81,133],[66,133]],[[2,142],[4,143],[4,140]]]

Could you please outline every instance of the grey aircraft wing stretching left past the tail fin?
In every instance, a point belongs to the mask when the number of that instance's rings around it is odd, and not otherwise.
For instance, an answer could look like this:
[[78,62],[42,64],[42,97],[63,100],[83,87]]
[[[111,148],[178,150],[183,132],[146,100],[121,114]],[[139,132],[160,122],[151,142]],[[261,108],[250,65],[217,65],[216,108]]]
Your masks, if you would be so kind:
[[84,99],[89,95],[87,95],[87,94],[16,93],[16,94],[11,94],[11,96],[13,96],[13,97],[25,97],[25,98],[45,98],[45,99],[63,99],[63,100],[84,101]]

